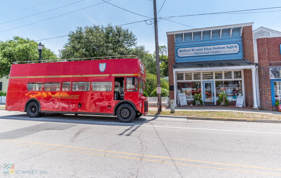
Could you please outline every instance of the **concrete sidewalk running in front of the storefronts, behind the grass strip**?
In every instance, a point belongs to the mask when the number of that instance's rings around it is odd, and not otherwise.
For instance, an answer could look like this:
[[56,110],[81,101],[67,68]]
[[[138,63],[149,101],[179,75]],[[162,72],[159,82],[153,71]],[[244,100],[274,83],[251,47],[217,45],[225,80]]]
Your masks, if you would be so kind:
[[[149,107],[148,111],[158,111],[155,107]],[[169,108],[163,108],[162,111],[171,111]],[[223,108],[223,107],[175,107],[175,111],[200,111],[200,112],[242,112],[251,114],[269,114],[269,115],[281,115],[278,111],[264,111],[264,110],[251,110],[251,109],[239,109],[239,108]]]

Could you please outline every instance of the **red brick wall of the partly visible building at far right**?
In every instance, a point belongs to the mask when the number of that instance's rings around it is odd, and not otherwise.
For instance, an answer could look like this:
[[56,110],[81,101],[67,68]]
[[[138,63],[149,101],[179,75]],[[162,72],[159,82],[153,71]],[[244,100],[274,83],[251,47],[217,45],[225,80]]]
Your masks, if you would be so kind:
[[259,59],[259,100],[260,108],[264,110],[277,110],[272,106],[270,88],[270,65],[281,65],[279,45],[281,37],[258,38],[258,59]]

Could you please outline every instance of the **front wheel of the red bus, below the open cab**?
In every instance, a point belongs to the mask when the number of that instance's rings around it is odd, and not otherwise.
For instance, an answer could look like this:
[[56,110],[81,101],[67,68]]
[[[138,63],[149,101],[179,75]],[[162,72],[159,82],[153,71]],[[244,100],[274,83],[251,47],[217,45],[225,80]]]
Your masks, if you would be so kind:
[[116,116],[120,122],[131,122],[135,119],[136,110],[130,104],[121,104],[116,111]]

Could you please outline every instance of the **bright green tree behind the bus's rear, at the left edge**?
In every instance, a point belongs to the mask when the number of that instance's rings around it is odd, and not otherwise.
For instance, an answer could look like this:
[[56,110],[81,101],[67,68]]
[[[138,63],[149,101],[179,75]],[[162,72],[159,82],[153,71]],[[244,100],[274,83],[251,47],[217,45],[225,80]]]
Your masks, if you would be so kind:
[[[13,37],[0,41],[0,78],[9,76],[12,62],[39,60],[38,43],[29,38]],[[43,44],[42,60],[57,59],[56,54]]]

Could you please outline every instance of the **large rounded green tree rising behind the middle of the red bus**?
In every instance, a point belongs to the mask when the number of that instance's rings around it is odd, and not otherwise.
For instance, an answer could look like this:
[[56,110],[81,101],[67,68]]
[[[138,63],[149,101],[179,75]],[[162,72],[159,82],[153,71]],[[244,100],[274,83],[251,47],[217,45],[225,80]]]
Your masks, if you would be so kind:
[[125,56],[146,53],[143,46],[136,47],[133,32],[108,24],[77,27],[69,32],[67,43],[59,50],[60,58],[88,58],[103,56]]

